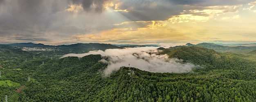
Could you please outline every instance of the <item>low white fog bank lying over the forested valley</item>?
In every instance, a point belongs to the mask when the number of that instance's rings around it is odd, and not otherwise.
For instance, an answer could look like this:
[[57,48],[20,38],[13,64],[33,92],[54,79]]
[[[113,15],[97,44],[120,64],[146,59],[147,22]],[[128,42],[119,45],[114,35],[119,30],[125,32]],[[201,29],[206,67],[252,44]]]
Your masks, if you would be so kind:
[[104,70],[106,76],[119,70],[121,66],[127,66],[128,64],[141,70],[159,73],[186,73],[191,72],[195,67],[192,63],[183,63],[182,60],[175,58],[169,59],[167,54],[157,55],[159,50],[156,49],[157,47],[107,49],[105,51],[90,51],[85,54],[66,54],[63,57],[83,57],[90,54],[107,56],[108,59],[101,60],[104,63],[108,63],[108,67]]

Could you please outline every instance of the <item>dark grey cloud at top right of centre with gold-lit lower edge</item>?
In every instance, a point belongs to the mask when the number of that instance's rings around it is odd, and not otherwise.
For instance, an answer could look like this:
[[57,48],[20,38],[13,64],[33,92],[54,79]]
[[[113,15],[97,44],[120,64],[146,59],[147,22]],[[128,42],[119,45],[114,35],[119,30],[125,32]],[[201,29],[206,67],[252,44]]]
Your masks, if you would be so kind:
[[[173,15],[184,14],[209,16],[207,13],[194,13],[189,10],[204,9],[227,9],[225,7],[210,8],[210,6],[247,4],[252,0],[121,0],[123,4],[121,10],[132,7],[129,12],[119,11],[131,21],[152,21],[167,20]],[[155,5],[154,5],[155,3]],[[144,5],[144,6],[141,6]],[[153,6],[152,6],[153,5]],[[229,8],[224,12],[234,12],[237,9]],[[183,11],[188,10],[188,11]]]

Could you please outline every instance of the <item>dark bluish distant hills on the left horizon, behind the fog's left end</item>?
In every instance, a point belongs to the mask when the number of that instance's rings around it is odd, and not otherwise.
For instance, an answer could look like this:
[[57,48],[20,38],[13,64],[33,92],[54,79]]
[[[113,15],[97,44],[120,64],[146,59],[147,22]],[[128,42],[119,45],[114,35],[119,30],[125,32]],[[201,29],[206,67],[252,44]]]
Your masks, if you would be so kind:
[[25,51],[30,52],[40,52],[46,55],[63,55],[68,53],[86,53],[91,50],[106,50],[113,48],[123,48],[114,46],[111,44],[103,43],[76,43],[72,45],[60,45],[60,46],[49,46],[44,44],[35,44],[35,43],[11,43],[7,44],[8,46],[20,48]]

